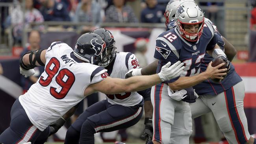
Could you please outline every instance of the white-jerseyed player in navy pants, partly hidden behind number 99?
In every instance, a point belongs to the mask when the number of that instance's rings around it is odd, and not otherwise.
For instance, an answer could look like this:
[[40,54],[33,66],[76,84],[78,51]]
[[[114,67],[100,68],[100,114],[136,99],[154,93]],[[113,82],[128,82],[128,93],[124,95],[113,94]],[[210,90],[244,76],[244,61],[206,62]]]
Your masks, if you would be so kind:
[[[124,78],[128,70],[139,68],[134,54],[115,52],[115,40],[110,31],[98,28],[93,33],[100,35],[106,42],[107,55],[98,65],[104,66],[111,78]],[[150,102],[150,91],[151,89],[146,89],[139,92],[147,102]],[[144,100],[140,94],[137,92],[106,94],[105,100],[88,107],[69,127],[65,144],[78,144],[81,141],[94,144],[95,133],[133,126],[143,114]],[[152,105],[151,102],[148,104]]]

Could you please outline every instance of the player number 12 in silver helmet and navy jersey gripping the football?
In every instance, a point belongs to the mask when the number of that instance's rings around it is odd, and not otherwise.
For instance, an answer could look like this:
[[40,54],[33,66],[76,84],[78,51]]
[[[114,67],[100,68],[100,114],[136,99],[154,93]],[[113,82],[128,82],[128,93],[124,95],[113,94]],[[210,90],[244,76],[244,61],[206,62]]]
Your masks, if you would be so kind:
[[[208,70],[199,74],[200,63],[206,50],[212,54],[212,51],[219,52],[220,49],[216,44],[217,36],[213,26],[209,22],[204,22],[202,10],[195,2],[183,2],[176,11],[175,21],[175,29],[163,32],[156,39],[154,57],[159,59],[157,72],[161,65],[168,61],[184,61],[186,68],[182,77],[152,87],[154,143],[189,143],[192,132],[189,104],[170,99],[170,91],[191,87],[211,78],[212,75],[223,79],[221,76],[227,70],[225,68],[208,73],[209,68],[212,68],[209,65]],[[168,90],[169,88],[171,90]]]

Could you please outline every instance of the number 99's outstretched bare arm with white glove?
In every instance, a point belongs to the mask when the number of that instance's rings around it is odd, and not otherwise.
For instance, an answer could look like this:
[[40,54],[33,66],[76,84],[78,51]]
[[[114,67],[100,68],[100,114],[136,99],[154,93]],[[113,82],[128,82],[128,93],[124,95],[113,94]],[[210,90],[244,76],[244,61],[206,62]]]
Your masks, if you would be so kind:
[[150,76],[134,76],[128,79],[110,78],[89,85],[85,89],[84,95],[87,96],[95,91],[100,91],[105,94],[118,94],[122,92],[135,92],[148,87],[152,87],[161,81],[167,81],[180,76],[184,69],[184,63],[178,61],[171,66],[171,62],[164,65],[161,72]]

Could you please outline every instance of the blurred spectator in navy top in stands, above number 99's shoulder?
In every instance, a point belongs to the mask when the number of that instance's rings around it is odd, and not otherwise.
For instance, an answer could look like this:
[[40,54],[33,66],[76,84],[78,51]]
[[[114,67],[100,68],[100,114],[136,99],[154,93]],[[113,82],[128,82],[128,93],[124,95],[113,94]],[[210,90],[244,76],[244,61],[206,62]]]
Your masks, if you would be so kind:
[[70,21],[67,6],[63,2],[45,0],[41,7],[41,13],[45,21]]

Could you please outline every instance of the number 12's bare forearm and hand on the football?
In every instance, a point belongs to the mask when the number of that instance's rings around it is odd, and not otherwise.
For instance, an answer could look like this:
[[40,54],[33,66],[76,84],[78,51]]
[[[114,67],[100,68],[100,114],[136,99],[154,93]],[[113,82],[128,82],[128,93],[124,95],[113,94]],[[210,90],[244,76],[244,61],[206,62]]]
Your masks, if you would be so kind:
[[181,90],[189,87],[193,87],[194,85],[197,85],[198,83],[206,80],[206,79],[223,79],[223,77],[226,75],[227,68],[220,69],[219,68],[225,63],[221,63],[220,65],[217,65],[215,67],[211,66],[211,63],[209,63],[207,69],[205,72],[202,72],[195,76],[189,76],[189,77],[180,77],[178,80],[174,81],[173,83],[168,83],[171,90]]

